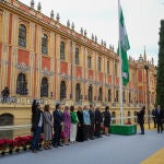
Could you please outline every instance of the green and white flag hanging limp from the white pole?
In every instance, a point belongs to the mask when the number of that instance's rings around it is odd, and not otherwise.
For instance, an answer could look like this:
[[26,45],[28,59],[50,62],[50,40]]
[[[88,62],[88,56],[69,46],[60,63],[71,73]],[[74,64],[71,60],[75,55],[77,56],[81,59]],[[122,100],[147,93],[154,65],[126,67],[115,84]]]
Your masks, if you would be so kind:
[[121,57],[122,60],[122,84],[126,86],[129,82],[129,61],[127,57],[127,50],[130,49],[128,35],[126,31],[125,20],[121,7],[119,7],[119,47],[118,54]]

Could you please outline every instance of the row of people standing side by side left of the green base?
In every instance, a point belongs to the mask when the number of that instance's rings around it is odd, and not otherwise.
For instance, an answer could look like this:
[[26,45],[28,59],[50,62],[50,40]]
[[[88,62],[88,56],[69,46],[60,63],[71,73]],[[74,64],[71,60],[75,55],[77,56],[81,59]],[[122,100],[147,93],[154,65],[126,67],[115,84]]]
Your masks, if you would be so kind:
[[[105,134],[108,136],[110,126],[109,106],[101,113],[101,108],[94,105],[89,106],[65,106],[61,112],[61,104],[57,104],[52,114],[49,105],[44,106],[44,112],[39,103],[35,99],[32,105],[32,151],[39,151],[39,136],[44,133],[44,149],[62,147],[61,136],[65,145],[85,140],[101,138],[101,125],[104,124]],[[54,130],[52,130],[54,129]]]

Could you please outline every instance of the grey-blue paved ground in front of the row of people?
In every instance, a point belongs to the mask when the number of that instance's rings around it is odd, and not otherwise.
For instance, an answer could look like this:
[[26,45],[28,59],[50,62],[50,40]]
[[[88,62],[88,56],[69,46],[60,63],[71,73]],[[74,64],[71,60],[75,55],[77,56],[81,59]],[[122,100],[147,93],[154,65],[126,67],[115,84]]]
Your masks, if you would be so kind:
[[5,155],[0,164],[139,164],[163,148],[164,133],[147,130],[144,136],[110,134],[35,154]]

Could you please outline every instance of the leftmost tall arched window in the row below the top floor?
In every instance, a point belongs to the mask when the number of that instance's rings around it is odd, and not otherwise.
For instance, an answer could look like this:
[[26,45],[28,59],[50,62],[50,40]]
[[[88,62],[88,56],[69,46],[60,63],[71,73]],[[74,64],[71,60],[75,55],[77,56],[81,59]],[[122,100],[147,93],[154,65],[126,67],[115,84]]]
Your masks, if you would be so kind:
[[20,94],[20,95],[26,95],[26,94],[27,94],[26,77],[25,77],[24,73],[20,73],[20,74],[17,75],[16,93]]

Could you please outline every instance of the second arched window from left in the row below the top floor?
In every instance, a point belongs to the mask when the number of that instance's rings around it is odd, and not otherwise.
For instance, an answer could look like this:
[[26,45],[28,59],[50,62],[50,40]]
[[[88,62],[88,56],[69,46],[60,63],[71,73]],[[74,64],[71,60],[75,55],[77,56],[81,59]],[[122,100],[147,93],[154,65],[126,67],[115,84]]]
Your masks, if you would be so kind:
[[47,78],[42,79],[40,97],[48,97],[48,79]]

